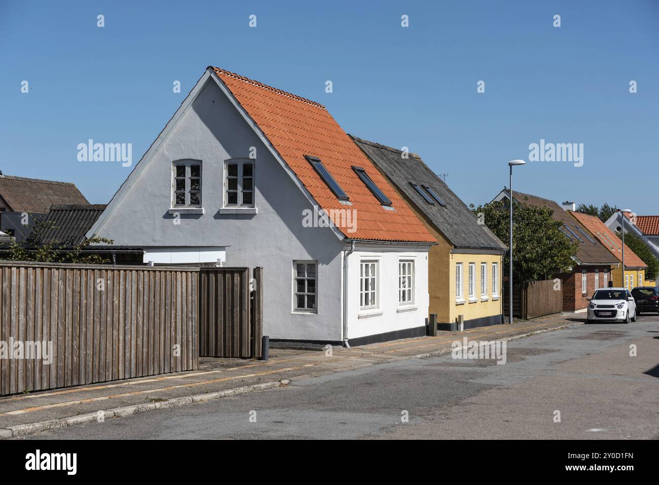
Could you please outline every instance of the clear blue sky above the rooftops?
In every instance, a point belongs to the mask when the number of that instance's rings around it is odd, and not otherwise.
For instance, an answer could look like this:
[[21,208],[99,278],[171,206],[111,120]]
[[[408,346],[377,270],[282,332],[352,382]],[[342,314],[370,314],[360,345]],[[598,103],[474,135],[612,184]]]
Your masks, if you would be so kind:
[[583,167],[529,163],[514,188],[659,214],[659,1],[0,0],[0,46],[0,170],[71,181],[93,203],[132,167],[80,162],[77,144],[130,142],[137,163],[217,65],[408,146],[467,204],[544,138],[583,143]]

